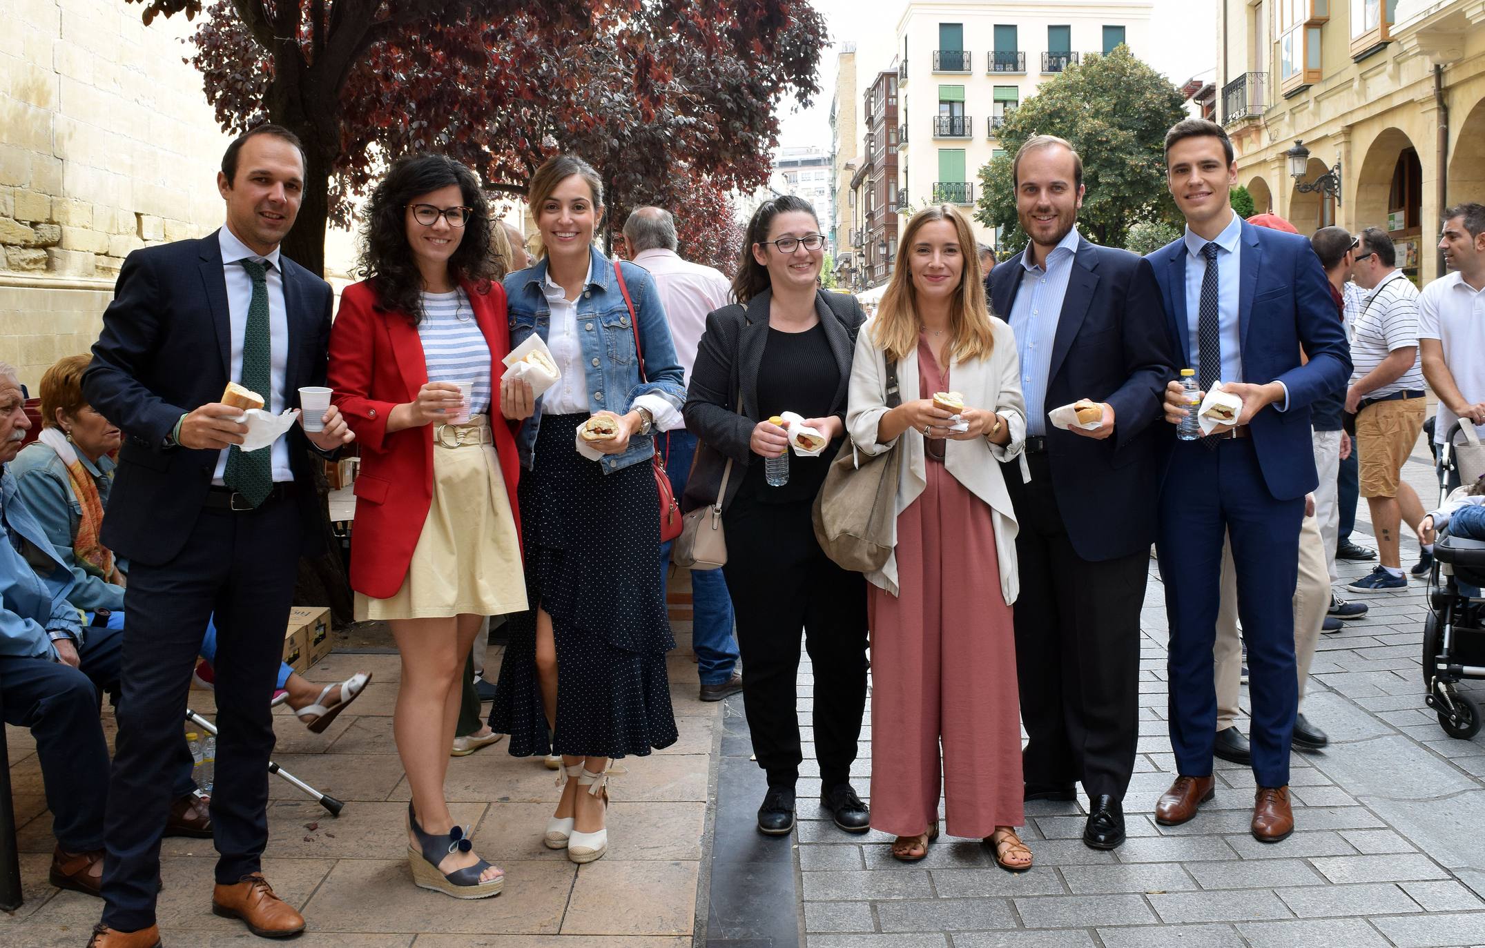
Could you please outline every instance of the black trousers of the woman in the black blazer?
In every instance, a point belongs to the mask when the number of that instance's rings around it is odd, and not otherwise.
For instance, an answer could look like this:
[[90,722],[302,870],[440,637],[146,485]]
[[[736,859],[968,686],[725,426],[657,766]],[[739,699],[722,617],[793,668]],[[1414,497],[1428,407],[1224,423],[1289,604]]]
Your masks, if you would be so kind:
[[757,503],[740,491],[723,515],[723,573],[742,654],[742,703],[769,786],[793,788],[799,746],[799,631],[814,665],[815,757],[829,789],[855,761],[866,709],[866,579],[815,542],[811,501]]

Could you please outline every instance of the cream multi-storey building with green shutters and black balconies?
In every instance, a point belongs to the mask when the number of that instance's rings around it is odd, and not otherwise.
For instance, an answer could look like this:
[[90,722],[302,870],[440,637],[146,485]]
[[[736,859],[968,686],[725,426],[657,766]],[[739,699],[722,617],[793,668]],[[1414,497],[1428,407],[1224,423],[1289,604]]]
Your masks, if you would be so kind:
[[[1037,86],[1087,56],[1127,45],[1149,55],[1149,0],[909,0],[897,24],[900,191],[913,211],[979,197],[979,169],[998,151],[998,129]],[[907,136],[913,145],[907,148]],[[976,237],[992,242],[974,224]]]

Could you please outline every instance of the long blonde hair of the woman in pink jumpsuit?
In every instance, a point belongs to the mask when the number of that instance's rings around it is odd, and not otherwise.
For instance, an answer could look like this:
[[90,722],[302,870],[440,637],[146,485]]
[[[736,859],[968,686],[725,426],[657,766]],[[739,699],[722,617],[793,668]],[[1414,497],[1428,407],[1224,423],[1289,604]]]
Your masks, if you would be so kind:
[[872,322],[872,341],[887,353],[888,359],[901,362],[918,352],[918,289],[913,286],[912,266],[907,255],[913,240],[925,224],[949,221],[959,237],[959,258],[964,271],[959,276],[959,292],[949,303],[949,358],[956,362],[983,359],[995,349],[990,329],[990,315],[985,303],[985,277],[980,273],[980,255],[976,252],[974,231],[952,205],[924,208],[907,221],[901,240],[897,243],[897,269],[882,294],[876,319]]

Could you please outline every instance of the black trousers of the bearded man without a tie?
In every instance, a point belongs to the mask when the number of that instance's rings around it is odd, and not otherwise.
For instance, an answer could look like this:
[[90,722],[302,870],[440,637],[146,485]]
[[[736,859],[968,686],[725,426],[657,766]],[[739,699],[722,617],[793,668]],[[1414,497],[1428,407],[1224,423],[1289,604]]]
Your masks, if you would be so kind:
[[[1016,675],[1028,783],[1123,800],[1139,739],[1139,608],[1149,553],[1090,562],[1057,510],[1050,458],[1028,455],[1031,484],[1005,469],[1020,533]],[[1154,490],[1154,488],[1152,488]]]

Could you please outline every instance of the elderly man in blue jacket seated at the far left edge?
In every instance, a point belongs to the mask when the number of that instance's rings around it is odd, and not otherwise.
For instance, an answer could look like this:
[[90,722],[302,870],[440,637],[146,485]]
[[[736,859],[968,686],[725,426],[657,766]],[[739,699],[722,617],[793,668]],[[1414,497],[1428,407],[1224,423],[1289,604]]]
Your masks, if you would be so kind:
[[[98,708],[104,691],[117,693],[123,636],[108,625],[85,625],[85,614],[67,599],[71,571],[16,493],[9,463],[30,427],[15,369],[0,363],[0,464],[6,466],[0,475],[0,714],[36,737],[56,837],[52,884],[97,896],[108,791],[108,743]],[[171,774],[178,800],[169,832],[209,837],[184,736],[181,754]]]

